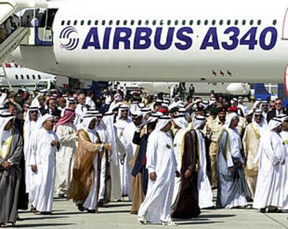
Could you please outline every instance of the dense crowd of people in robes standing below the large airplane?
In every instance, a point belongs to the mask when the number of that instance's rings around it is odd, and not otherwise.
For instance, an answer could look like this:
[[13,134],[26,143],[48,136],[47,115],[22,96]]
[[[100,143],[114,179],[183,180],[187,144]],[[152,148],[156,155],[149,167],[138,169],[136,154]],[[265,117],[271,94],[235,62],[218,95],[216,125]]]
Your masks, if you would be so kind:
[[213,93],[183,101],[107,89],[101,97],[2,90],[0,139],[1,226],[28,206],[52,214],[54,190],[87,213],[126,196],[139,223],[166,226],[205,208],[288,210],[281,99],[248,109],[242,97]]

